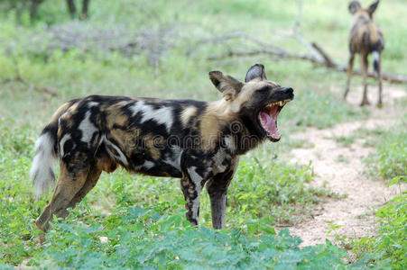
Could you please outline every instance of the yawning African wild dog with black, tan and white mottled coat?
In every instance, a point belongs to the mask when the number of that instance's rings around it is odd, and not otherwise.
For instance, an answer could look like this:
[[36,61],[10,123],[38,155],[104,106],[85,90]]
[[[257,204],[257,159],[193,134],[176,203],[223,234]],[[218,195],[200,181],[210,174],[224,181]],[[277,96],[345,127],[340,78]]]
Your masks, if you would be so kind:
[[60,178],[37,227],[49,229],[53,214],[66,217],[102,171],[121,165],[180,178],[192,225],[198,224],[199,193],[207,184],[212,225],[224,228],[227,187],[239,156],[265,139],[281,138],[277,115],[294,95],[268,81],[259,64],[250,67],[245,83],[219,71],[209,78],[223,94],[216,102],[90,95],[63,104],[36,142],[31,175],[38,193],[52,184],[52,161],[60,160]]

